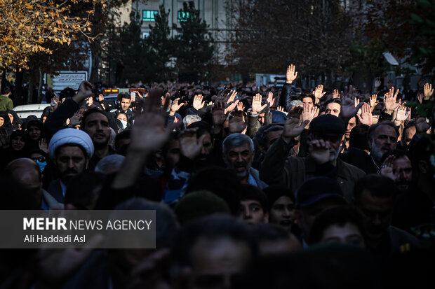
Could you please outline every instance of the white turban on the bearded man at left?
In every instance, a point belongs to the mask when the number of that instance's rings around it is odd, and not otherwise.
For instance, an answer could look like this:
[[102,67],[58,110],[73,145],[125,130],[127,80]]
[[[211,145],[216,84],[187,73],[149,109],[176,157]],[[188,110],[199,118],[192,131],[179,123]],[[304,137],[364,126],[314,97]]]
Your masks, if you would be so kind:
[[67,143],[74,143],[81,146],[84,150],[86,150],[88,158],[92,157],[93,143],[91,136],[88,136],[86,132],[83,132],[79,129],[60,129],[60,131],[54,134],[50,143],[48,144],[48,154],[50,155],[51,159],[55,158],[56,148]]

